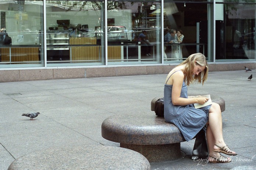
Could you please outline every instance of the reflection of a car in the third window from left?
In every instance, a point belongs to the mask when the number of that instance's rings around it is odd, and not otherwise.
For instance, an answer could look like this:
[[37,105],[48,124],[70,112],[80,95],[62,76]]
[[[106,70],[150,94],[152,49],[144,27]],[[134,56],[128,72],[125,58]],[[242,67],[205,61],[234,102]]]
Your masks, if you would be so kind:
[[127,41],[127,30],[124,26],[108,26],[107,27],[108,40],[124,40]]

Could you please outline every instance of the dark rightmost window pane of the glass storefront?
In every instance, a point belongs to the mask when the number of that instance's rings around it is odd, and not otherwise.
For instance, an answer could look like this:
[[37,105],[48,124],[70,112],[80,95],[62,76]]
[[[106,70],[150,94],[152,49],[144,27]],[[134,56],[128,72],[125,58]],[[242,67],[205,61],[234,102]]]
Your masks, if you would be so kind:
[[223,18],[223,55],[217,56],[216,61],[255,60],[255,5],[253,4],[216,4],[223,12],[216,13]]

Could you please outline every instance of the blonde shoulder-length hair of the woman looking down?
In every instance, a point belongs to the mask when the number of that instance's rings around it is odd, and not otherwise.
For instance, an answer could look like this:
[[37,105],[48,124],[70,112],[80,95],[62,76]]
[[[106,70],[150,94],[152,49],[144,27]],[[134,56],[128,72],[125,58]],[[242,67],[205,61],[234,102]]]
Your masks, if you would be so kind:
[[[194,63],[199,66],[205,67],[205,70],[200,72],[198,75],[193,76]],[[189,86],[190,83],[201,83],[202,84],[207,80],[208,77],[208,64],[205,58],[205,55],[202,53],[195,53],[190,55],[185,61],[180,63],[178,66],[185,65],[184,69],[184,81],[186,85]]]

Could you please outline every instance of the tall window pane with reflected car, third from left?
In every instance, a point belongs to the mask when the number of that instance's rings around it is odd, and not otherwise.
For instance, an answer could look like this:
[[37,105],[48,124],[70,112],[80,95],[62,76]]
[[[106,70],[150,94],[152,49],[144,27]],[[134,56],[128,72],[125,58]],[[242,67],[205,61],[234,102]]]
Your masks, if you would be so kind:
[[160,6],[156,1],[108,1],[108,64],[160,63]]

